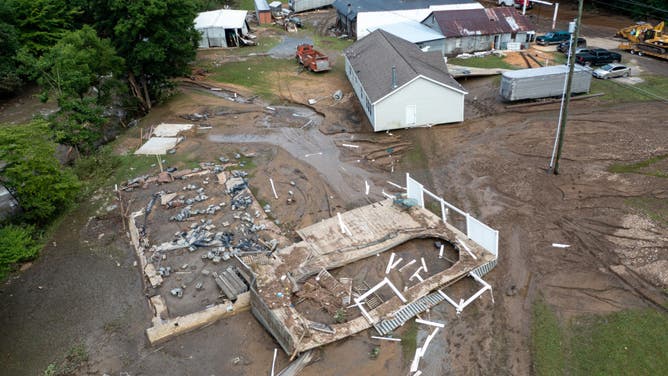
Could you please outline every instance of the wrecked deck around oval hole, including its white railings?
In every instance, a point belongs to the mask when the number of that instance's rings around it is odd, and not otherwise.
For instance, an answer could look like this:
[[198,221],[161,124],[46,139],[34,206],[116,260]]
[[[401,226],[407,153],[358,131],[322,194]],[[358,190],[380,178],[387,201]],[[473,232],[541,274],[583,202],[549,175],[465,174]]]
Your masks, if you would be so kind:
[[[496,265],[498,232],[424,190],[409,176],[406,185],[404,198],[376,202],[303,228],[298,231],[301,242],[275,252],[270,264],[251,266],[256,276],[251,286],[252,312],[287,354],[296,355],[372,327],[385,335],[442,301],[452,304],[459,314],[485,291],[491,292],[491,286],[480,277]],[[441,204],[441,217],[425,208],[425,194]],[[460,222],[466,224],[465,231],[449,222],[451,214],[464,218]],[[357,307],[361,315],[350,320],[311,321],[295,308],[299,304],[296,293],[307,278],[314,275],[316,280],[321,276],[330,278],[329,270],[370,256],[385,256],[385,252],[419,238],[448,242],[458,250],[459,259],[451,267],[423,278],[421,273],[431,267],[424,258],[421,262],[403,259],[395,262],[392,253],[385,278],[369,286],[365,293],[351,293],[348,300],[351,305],[346,308]],[[404,266],[399,268],[401,263]],[[392,280],[403,283],[409,275],[403,291],[399,291]],[[457,303],[440,290],[466,277],[483,285],[468,299]],[[379,302],[373,295],[380,289],[392,292],[393,296]]]

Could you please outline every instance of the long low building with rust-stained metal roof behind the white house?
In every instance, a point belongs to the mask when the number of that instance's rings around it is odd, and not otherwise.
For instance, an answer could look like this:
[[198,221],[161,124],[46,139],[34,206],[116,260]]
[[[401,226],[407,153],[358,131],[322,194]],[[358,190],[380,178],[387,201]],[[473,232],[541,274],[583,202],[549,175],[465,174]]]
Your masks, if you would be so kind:
[[528,17],[507,7],[434,11],[422,23],[443,34],[444,55],[519,50],[536,35]]

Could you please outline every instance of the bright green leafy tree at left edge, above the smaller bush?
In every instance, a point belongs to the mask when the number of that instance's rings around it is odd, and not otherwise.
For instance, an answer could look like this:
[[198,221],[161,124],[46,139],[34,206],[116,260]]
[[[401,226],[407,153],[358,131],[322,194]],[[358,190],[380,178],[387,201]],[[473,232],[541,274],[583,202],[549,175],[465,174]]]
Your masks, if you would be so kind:
[[80,184],[55,157],[48,125],[36,120],[25,125],[0,126],[0,182],[16,197],[23,218],[44,224],[69,207]]

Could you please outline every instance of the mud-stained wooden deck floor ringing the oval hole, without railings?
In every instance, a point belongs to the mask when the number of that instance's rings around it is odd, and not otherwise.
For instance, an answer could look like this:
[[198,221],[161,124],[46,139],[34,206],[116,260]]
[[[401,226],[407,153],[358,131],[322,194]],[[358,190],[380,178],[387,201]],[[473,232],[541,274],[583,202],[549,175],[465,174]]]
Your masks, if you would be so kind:
[[[347,230],[342,231],[341,222]],[[276,304],[274,296],[284,291],[282,289],[286,285],[281,282],[283,275],[290,274],[297,281],[304,280],[323,268],[341,267],[415,238],[434,237],[453,244],[457,239],[465,241],[475,258],[468,252],[460,252],[459,261],[452,267],[403,292],[410,303],[496,260],[492,253],[467,240],[466,234],[442,222],[429,210],[421,207],[403,208],[389,199],[342,213],[341,221],[337,216],[323,220],[299,230],[298,234],[303,241],[279,250],[274,265],[263,268],[262,277],[257,279],[257,291],[261,299],[270,307],[272,319],[281,326],[278,331],[270,331],[274,336],[281,333],[285,337],[277,339],[289,354],[338,341],[371,328],[372,323],[360,316],[342,324],[331,325],[333,334],[311,330],[310,321],[289,302]],[[368,313],[376,323],[392,317],[392,313],[403,305],[398,297],[393,297]]]

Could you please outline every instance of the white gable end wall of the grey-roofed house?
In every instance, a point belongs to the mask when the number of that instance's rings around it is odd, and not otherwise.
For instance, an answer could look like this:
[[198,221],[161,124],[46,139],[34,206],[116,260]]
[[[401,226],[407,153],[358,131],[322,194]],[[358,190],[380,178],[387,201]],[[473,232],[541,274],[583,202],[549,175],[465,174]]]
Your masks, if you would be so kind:
[[414,105],[415,125],[456,123],[464,120],[464,94],[424,78],[376,103],[374,131],[408,128],[406,107]]

